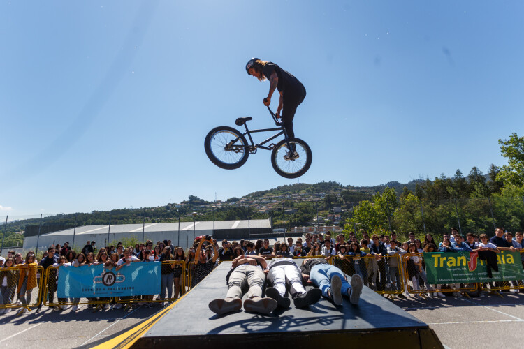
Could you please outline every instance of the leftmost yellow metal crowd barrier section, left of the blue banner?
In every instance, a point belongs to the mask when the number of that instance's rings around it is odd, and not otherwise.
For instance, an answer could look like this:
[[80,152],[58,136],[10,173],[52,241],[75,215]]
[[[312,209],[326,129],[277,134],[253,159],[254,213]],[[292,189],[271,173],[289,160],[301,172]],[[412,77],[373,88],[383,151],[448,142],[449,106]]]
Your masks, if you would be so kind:
[[[0,288],[0,309],[24,308],[31,311],[31,307],[38,306],[41,299],[43,274],[44,270],[41,266],[17,265],[16,267],[1,268],[0,285],[3,284],[3,281],[6,281],[6,286]],[[20,288],[25,288],[22,295]]]

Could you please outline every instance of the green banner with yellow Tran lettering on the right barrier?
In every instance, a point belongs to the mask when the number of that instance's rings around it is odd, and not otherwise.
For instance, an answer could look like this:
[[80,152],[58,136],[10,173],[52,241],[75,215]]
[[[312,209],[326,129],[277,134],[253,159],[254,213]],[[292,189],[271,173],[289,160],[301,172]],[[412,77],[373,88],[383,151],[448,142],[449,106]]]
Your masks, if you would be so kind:
[[488,281],[523,280],[521,253],[501,251],[497,253],[498,272],[491,270],[488,277],[486,260],[476,252],[430,252],[424,253],[428,283],[475,283]]

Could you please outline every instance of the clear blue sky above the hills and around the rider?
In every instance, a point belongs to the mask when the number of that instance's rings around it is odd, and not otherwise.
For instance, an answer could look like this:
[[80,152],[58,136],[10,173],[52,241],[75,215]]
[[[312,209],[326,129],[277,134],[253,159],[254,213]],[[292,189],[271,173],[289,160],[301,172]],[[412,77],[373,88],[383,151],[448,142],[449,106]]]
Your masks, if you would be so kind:
[[[271,127],[251,57],[303,82],[300,182],[407,182],[503,165],[522,133],[522,1],[1,1],[0,218],[242,196],[214,126]],[[274,98],[272,107],[277,105]],[[263,139],[257,138],[258,140]],[[265,138],[264,138],[265,139]],[[5,218],[4,218],[5,219]]]

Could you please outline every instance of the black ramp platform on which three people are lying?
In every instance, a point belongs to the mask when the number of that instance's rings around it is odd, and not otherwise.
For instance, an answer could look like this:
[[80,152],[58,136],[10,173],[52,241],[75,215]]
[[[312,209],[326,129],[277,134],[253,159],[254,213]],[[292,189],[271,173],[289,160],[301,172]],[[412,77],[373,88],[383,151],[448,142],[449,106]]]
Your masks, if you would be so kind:
[[[296,262],[300,265],[302,260]],[[326,344],[326,340],[344,337],[351,338],[351,341],[367,338],[363,343],[370,344],[368,334],[372,333],[377,343],[380,340],[387,343],[391,340],[388,334],[392,332],[396,332],[395,341],[404,341],[404,346],[412,343],[413,347],[440,347],[422,346],[424,341],[420,338],[421,334],[432,333],[428,325],[367,287],[363,289],[358,306],[344,298],[343,306],[335,307],[328,299],[321,298],[308,309],[296,309],[291,302],[291,308],[277,309],[272,315],[247,313],[243,309],[236,313],[216,315],[210,311],[208,303],[212,299],[226,297],[226,274],[230,268],[231,262],[221,263],[144,334],[135,347],[181,344],[185,341],[188,345],[194,345],[196,340],[208,344],[231,340],[243,343],[248,338],[249,345],[253,347],[256,343],[265,346],[272,341],[282,344],[287,337],[289,343],[297,344],[303,340],[305,346]],[[254,343],[257,338],[259,341]],[[439,343],[438,339],[436,342]]]

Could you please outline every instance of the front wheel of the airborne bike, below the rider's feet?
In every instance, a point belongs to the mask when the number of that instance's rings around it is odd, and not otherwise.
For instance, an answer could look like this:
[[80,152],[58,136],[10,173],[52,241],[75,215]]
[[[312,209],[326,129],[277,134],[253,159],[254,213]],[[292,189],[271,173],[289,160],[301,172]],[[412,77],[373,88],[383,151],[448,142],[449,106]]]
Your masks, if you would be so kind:
[[[297,178],[309,170],[312,161],[310,146],[299,138],[289,140],[291,148],[295,148],[296,154],[289,154],[286,140],[277,143],[271,153],[271,165],[275,172],[285,178]],[[291,156],[289,156],[291,155]]]

